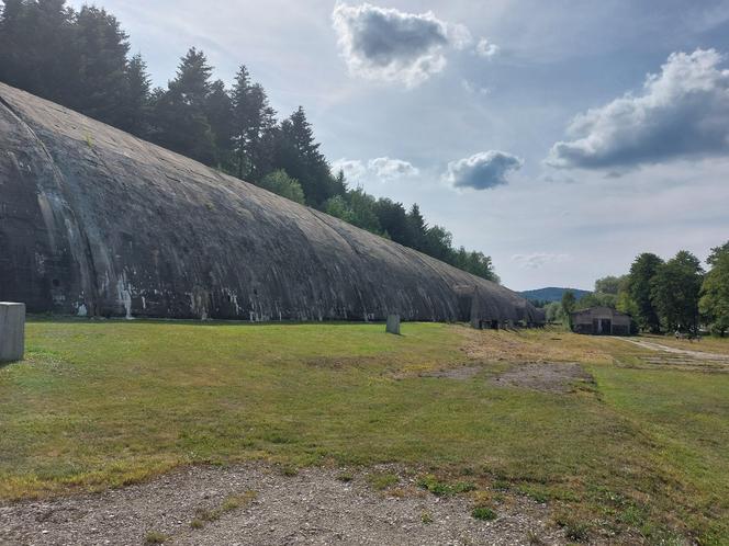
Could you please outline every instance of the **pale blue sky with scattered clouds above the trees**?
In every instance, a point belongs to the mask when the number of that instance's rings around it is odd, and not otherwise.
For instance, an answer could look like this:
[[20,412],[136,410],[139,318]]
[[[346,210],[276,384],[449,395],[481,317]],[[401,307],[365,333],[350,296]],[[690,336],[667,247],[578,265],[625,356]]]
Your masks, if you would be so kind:
[[226,82],[247,65],[352,183],[417,202],[512,288],[729,239],[729,1],[97,4],[157,84],[193,45]]

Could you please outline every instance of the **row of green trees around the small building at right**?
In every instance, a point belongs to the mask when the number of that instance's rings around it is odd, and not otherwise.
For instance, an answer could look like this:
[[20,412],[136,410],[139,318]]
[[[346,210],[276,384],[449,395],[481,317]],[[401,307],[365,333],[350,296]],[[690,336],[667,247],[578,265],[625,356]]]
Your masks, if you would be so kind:
[[606,306],[630,315],[651,333],[697,333],[705,326],[717,335],[729,330],[729,241],[711,249],[705,271],[698,258],[681,250],[669,260],[651,252],[636,257],[630,271],[595,282],[595,292],[546,307],[547,319],[569,321],[570,314]]

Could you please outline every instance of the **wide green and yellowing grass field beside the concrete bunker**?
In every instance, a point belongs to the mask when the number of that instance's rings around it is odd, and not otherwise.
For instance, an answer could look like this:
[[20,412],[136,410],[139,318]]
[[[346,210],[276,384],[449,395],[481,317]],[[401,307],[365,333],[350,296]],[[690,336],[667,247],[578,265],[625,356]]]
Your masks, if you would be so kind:
[[[575,541],[729,544],[729,374],[643,365],[647,354],[434,323],[395,337],[382,325],[31,321],[26,360],[0,368],[0,499],[184,464],[395,462],[434,475],[426,485],[476,489],[463,494],[547,501]],[[594,383],[557,394],[492,380],[535,361],[580,362]],[[427,376],[461,365],[476,375]]]

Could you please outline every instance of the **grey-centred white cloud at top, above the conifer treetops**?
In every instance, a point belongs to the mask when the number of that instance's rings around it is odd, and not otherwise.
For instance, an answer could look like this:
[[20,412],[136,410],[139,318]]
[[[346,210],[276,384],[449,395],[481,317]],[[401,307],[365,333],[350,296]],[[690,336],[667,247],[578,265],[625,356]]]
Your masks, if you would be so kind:
[[462,25],[430,11],[406,13],[369,3],[338,3],[332,13],[341,55],[350,73],[368,79],[423,83],[446,67],[446,49],[471,43]]

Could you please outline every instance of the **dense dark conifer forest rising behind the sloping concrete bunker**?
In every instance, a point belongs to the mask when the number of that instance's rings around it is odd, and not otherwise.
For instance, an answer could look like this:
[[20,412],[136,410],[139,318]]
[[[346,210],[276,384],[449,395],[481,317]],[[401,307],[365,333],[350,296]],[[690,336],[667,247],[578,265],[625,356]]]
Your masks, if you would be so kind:
[[279,120],[245,66],[227,87],[192,47],[167,88],[153,89],[144,59],[130,56],[127,34],[103,9],[4,0],[0,81],[498,281],[490,257],[455,248],[451,234],[429,226],[416,204],[405,209],[349,187],[343,172],[332,172],[304,109]]

